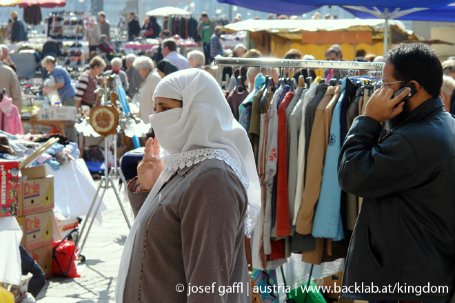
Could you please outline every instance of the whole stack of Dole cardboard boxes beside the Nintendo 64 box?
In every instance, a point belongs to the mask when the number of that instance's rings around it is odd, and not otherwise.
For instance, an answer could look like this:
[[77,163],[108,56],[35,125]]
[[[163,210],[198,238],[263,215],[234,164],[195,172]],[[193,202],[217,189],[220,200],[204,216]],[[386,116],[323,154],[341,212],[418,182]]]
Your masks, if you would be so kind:
[[54,176],[48,175],[47,165],[23,169],[26,180],[19,182],[17,222],[23,236],[21,245],[52,277],[52,242],[54,242]]

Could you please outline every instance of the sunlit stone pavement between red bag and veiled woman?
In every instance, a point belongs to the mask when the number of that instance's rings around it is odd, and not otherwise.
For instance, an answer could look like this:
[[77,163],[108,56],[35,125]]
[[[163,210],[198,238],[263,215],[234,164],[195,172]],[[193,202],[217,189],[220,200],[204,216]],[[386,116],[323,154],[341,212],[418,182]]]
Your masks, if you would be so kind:
[[[128,198],[124,191],[120,196],[132,222]],[[83,248],[86,261],[78,265],[81,278],[51,278],[37,297],[39,303],[115,302],[117,270],[129,229],[112,188],[105,192],[103,200],[108,210],[103,212],[101,226],[93,224]]]

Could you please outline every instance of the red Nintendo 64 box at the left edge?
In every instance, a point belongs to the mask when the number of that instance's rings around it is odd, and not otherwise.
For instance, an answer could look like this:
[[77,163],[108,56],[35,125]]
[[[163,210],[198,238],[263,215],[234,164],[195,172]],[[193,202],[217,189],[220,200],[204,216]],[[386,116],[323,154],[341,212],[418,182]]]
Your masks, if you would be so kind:
[[19,163],[0,161],[0,217],[19,216]]

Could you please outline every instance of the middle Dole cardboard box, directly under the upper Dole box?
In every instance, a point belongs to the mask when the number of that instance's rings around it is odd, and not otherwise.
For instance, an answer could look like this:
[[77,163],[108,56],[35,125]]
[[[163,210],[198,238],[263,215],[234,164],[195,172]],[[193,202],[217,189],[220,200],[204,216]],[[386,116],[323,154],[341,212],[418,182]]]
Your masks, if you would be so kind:
[[54,211],[52,209],[17,217],[17,222],[23,232],[22,246],[29,250],[52,244],[54,241],[53,220]]

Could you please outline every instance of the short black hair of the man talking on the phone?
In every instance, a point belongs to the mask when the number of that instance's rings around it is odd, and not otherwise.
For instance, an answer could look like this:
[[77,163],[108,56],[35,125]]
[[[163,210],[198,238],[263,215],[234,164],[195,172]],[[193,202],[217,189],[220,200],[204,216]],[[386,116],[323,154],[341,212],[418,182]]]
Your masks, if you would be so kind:
[[441,94],[443,66],[429,45],[400,43],[385,54],[384,62],[394,65],[393,76],[396,80],[414,80],[431,96]]

